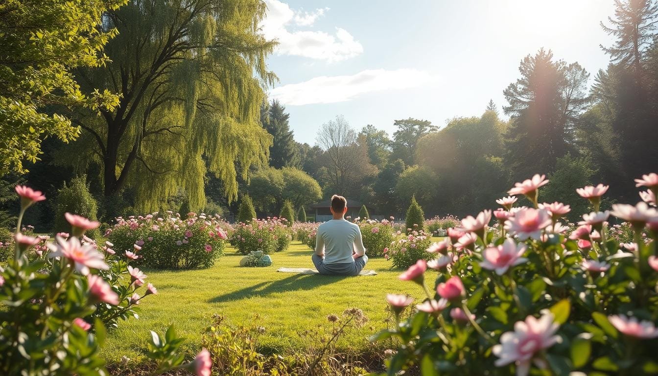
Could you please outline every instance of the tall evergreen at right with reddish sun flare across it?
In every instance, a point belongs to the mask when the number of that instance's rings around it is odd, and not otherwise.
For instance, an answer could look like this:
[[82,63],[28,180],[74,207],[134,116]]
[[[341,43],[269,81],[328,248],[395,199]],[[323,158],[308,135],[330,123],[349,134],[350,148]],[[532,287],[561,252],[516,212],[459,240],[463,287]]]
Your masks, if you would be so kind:
[[521,78],[505,89],[511,115],[506,134],[506,162],[513,178],[553,171],[555,161],[572,149],[578,116],[588,103],[589,74],[577,63],[553,61],[551,51],[526,56]]

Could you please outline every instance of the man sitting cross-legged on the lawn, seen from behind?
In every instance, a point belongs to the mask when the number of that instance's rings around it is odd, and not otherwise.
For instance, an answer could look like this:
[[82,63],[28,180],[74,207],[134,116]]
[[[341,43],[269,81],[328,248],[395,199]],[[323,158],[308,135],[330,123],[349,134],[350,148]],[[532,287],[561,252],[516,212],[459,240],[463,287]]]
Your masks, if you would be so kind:
[[347,200],[343,196],[331,198],[334,219],[318,227],[313,263],[324,275],[359,275],[368,262],[363,248],[361,228],[345,220]]

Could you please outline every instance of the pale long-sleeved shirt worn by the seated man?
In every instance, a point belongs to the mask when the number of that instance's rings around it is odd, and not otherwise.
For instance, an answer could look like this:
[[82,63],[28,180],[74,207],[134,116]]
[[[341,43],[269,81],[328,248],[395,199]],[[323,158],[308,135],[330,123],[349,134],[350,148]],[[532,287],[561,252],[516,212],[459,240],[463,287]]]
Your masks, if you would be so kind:
[[354,262],[352,251],[357,257],[366,253],[358,225],[345,219],[332,219],[318,227],[315,254],[324,253],[324,263]]

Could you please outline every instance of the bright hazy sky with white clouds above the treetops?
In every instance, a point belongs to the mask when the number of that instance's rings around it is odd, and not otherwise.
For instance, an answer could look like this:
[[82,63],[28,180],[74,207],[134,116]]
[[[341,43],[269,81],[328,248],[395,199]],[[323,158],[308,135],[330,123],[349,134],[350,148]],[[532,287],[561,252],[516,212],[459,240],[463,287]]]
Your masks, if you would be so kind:
[[415,117],[443,126],[479,116],[489,99],[502,113],[503,90],[540,47],[605,68],[599,22],[613,0],[266,0],[267,38],[280,45],[268,64],[280,82],[270,98],[286,105],[295,140],[315,144],[319,126],[344,115],[393,133]]

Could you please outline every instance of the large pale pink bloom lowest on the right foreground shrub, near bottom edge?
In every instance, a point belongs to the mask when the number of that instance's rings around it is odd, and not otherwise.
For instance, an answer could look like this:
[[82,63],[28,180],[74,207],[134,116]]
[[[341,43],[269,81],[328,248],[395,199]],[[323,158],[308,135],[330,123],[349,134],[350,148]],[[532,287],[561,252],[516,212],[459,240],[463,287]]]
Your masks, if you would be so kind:
[[495,365],[501,367],[514,362],[517,376],[528,375],[534,355],[559,341],[560,337],[555,335],[558,328],[553,313],[548,311],[540,319],[528,316],[525,321],[517,321],[514,331],[503,333],[500,344],[493,346],[493,354],[499,358]]

